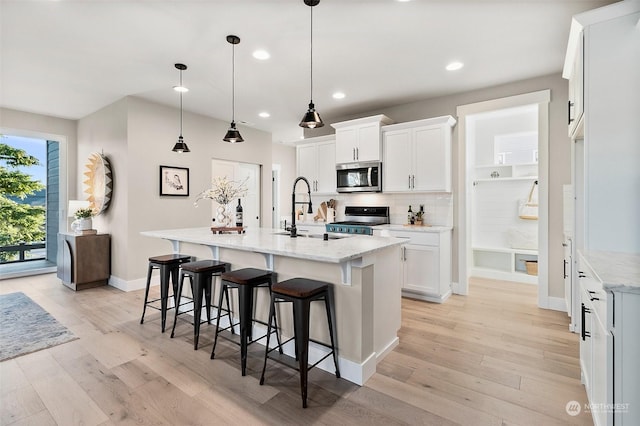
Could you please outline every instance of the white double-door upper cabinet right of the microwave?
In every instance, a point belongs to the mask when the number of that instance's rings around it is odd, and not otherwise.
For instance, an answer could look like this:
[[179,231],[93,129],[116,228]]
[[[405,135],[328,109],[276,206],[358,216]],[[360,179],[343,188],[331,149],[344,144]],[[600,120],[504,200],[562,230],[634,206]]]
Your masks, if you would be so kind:
[[451,116],[382,128],[383,192],[451,192]]

